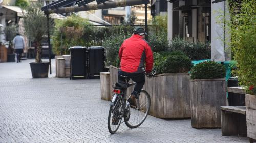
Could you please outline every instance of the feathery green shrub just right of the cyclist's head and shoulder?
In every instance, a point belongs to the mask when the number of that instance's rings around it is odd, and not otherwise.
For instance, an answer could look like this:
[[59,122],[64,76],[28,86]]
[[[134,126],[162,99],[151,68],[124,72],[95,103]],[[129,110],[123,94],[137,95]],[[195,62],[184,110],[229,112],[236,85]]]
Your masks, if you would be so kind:
[[167,51],[169,47],[169,41],[167,38],[167,33],[161,31],[158,34],[155,32],[151,32],[148,35],[148,43],[151,46],[152,51],[154,52],[162,52]]

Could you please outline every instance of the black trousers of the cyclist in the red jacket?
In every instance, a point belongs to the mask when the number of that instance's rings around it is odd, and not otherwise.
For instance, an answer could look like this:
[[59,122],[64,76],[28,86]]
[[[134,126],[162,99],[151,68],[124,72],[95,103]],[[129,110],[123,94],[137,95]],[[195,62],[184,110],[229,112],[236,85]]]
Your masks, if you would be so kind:
[[140,93],[141,89],[143,88],[143,86],[145,84],[145,74],[144,73],[127,73],[127,72],[119,70],[118,71],[118,82],[125,82],[125,78],[121,77],[120,75],[127,76],[130,79],[132,79],[134,82],[136,82],[134,90],[131,94],[133,94],[137,97],[137,94]]

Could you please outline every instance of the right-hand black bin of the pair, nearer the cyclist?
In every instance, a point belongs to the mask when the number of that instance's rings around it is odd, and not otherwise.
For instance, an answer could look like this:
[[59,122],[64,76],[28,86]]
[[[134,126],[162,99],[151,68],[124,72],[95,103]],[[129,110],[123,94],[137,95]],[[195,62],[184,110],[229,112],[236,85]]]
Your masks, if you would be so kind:
[[95,75],[99,76],[100,72],[104,72],[104,48],[101,46],[92,46],[88,49],[88,76],[93,78]]

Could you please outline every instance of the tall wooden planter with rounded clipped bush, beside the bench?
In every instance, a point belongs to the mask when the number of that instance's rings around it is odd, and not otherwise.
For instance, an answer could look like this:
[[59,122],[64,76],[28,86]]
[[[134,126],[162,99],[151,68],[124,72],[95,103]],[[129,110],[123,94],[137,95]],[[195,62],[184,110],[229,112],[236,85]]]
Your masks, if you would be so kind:
[[220,128],[221,106],[226,106],[225,67],[205,61],[191,70],[191,124],[194,128]]

